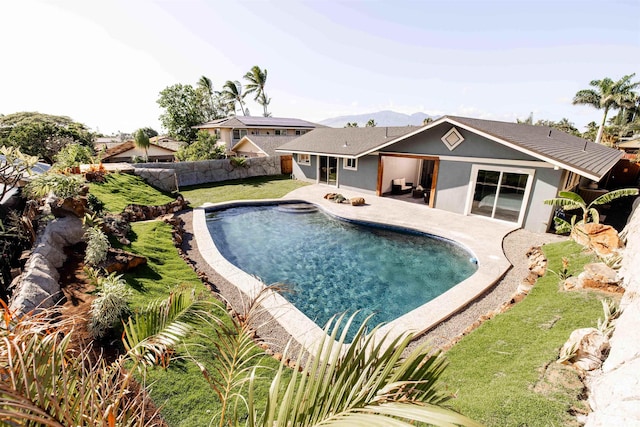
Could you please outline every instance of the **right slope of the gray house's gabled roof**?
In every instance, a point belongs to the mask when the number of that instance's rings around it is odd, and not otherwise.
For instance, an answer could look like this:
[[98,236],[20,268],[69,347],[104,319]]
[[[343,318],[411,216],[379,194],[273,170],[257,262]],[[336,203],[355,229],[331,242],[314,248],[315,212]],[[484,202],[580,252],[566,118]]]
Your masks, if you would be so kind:
[[441,120],[466,125],[472,131],[483,132],[512,144],[515,149],[587,175],[592,179],[596,178],[596,180],[606,174],[622,156],[618,150],[548,126],[532,126],[457,116],[445,116],[435,123],[439,123]]

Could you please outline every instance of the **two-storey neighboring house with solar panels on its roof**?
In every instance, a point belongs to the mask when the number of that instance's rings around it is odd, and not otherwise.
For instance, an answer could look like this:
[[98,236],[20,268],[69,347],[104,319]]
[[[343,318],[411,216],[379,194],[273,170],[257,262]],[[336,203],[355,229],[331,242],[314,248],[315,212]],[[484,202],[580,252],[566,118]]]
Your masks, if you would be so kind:
[[216,135],[229,149],[245,136],[301,136],[318,127],[324,126],[301,119],[253,116],[227,117],[194,126]]

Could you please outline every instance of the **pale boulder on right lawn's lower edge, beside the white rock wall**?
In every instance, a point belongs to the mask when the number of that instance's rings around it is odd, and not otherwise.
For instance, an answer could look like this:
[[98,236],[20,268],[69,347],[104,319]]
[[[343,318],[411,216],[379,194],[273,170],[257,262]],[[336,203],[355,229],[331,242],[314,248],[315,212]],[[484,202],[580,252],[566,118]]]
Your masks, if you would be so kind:
[[575,349],[575,355],[569,359],[576,368],[592,371],[602,366],[602,360],[609,351],[609,338],[595,328],[576,329],[562,346],[560,354]]

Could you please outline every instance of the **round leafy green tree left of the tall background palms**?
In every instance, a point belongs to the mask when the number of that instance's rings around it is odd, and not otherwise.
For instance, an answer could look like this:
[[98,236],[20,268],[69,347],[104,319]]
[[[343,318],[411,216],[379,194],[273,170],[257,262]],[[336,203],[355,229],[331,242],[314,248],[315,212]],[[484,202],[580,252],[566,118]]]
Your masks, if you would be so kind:
[[193,141],[197,126],[205,122],[201,97],[191,85],[175,84],[160,92],[158,105],[164,109],[160,122],[169,136],[179,141]]

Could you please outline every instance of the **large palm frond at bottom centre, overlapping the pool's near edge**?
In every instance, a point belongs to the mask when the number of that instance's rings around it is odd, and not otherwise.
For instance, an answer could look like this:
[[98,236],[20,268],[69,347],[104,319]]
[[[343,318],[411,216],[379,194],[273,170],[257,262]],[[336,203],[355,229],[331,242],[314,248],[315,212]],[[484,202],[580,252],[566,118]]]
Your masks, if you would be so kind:
[[[369,331],[369,319],[347,345],[353,321],[354,316],[344,315],[329,321],[316,353],[300,352],[296,360],[307,363],[302,372],[294,369],[286,384],[284,365],[280,367],[260,425],[406,426],[411,425],[408,421],[421,420],[442,426],[477,425],[437,408],[448,399],[437,386],[446,367],[442,356],[430,355],[423,345],[403,357],[413,336],[406,334],[391,340],[385,334],[378,340],[375,337],[379,327]],[[444,420],[456,420],[458,424]]]

